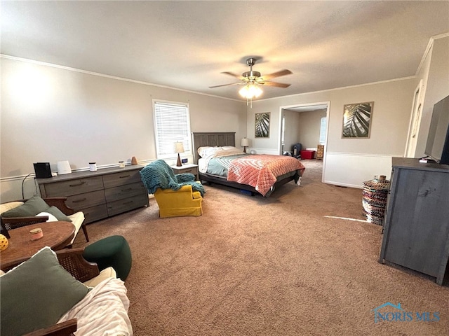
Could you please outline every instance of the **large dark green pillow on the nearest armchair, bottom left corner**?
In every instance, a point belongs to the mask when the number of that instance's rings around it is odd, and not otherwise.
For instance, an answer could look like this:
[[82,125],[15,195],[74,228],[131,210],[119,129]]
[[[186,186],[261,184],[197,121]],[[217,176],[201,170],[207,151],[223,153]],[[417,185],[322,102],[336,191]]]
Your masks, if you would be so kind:
[[0,334],[23,335],[54,325],[88,293],[44,247],[0,277]]

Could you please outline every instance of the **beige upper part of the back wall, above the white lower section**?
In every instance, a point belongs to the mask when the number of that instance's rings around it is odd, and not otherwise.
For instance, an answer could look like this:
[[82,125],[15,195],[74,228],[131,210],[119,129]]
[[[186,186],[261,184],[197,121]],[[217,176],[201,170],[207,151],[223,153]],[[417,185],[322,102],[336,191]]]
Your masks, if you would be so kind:
[[[328,151],[403,155],[408,132],[408,120],[415,89],[415,78],[347,87],[309,94],[297,94],[253,102],[248,109],[248,138],[254,146],[276,148],[279,144],[279,111],[282,106],[330,102],[328,118]],[[344,104],[374,102],[369,139],[342,139]],[[269,139],[254,139],[255,113],[271,112]]]

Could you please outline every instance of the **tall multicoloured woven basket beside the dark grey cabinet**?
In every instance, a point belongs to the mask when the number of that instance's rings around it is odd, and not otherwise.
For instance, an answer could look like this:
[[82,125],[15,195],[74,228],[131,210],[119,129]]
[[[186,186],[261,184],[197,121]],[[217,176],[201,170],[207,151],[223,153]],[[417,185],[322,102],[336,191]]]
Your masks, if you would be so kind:
[[363,182],[362,207],[366,221],[383,225],[389,188],[390,181],[384,175],[379,178],[375,176],[373,180]]

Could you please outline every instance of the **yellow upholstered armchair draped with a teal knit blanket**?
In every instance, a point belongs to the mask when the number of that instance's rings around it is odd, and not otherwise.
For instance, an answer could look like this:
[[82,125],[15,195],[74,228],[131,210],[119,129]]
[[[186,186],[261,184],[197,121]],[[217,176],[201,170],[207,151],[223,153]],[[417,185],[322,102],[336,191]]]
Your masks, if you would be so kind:
[[194,174],[177,174],[163,160],[140,170],[142,182],[159,206],[159,216],[201,216],[204,188]]

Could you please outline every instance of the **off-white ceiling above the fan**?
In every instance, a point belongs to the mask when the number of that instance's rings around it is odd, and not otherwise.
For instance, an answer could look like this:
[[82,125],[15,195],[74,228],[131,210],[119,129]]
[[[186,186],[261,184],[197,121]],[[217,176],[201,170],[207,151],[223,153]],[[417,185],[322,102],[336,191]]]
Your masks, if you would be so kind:
[[222,71],[288,88],[262,98],[414,76],[449,1],[1,1],[1,54],[240,99]]

